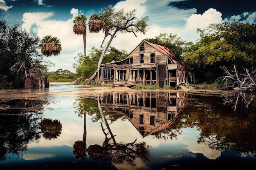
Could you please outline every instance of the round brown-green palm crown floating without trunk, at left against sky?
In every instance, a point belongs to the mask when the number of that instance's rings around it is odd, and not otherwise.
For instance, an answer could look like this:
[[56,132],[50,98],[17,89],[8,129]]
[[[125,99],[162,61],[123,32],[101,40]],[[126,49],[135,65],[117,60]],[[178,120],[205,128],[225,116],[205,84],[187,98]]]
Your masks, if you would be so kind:
[[52,35],[44,36],[39,46],[41,47],[41,53],[47,57],[61,53],[61,42],[57,37],[52,37]]

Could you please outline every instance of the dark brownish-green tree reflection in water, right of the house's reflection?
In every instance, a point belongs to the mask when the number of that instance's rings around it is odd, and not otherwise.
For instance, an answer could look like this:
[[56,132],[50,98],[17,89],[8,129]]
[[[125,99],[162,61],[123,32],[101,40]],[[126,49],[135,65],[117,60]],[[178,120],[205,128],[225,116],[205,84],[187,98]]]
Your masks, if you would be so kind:
[[254,115],[220,109],[218,105],[221,106],[221,101],[217,102],[216,99],[213,99],[215,104],[202,101],[198,101],[199,107],[191,107],[184,113],[186,116],[184,126],[196,126],[201,130],[198,143],[203,142],[216,150],[232,149],[244,154],[252,152],[256,155]]

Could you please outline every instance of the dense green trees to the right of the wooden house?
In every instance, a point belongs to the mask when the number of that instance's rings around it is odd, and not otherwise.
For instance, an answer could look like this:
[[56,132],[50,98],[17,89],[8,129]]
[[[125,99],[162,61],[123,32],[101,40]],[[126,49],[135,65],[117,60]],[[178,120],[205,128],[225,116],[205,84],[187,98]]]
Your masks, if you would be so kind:
[[198,29],[200,40],[188,43],[184,64],[195,71],[196,83],[213,83],[224,73],[220,66],[243,68],[256,66],[256,25],[249,23],[210,24]]

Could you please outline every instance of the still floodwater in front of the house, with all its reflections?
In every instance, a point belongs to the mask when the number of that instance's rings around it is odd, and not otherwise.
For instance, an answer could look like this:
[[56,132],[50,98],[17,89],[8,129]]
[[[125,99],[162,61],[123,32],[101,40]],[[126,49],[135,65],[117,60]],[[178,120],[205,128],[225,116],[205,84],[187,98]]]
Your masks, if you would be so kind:
[[0,170],[256,165],[256,118],[250,107],[234,112],[218,97],[154,91],[54,95],[81,89],[52,84],[27,90],[41,94],[36,100],[1,100]]

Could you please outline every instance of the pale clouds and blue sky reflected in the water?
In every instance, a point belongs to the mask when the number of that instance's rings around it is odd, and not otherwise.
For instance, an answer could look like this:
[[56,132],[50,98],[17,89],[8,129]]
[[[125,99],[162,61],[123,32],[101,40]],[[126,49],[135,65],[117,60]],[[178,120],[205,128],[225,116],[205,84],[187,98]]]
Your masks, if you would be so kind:
[[[74,87],[73,87],[74,88]],[[49,93],[58,91],[73,90],[72,86],[52,86],[49,88]],[[102,162],[95,162],[90,160],[87,155],[86,159],[79,160],[73,155],[73,145],[75,141],[83,140],[84,130],[84,118],[79,117],[75,113],[74,103],[77,102],[76,96],[49,96],[48,104],[44,105],[43,117],[48,119],[57,119],[62,124],[61,134],[57,139],[45,139],[43,137],[40,140],[29,143],[28,150],[24,154],[17,158],[11,156],[0,164],[0,169],[8,169],[16,165],[22,167],[25,165],[35,166],[40,168],[46,167],[49,162],[55,162],[56,164],[68,163],[69,165],[79,164],[81,167],[83,163],[101,164]],[[177,135],[177,139],[157,139],[154,135],[142,137],[140,132],[131,124],[131,122],[125,117],[121,117],[116,121],[108,120],[108,124],[112,133],[115,135],[117,143],[131,143],[137,139],[136,142],[145,142],[150,146],[150,161],[145,161],[136,158],[136,166],[130,166],[126,164],[115,164],[114,167],[119,170],[136,170],[136,169],[161,169],[168,167],[171,169],[173,165],[181,163],[182,160],[196,160],[208,161],[216,160],[225,155],[236,155],[235,157],[245,157],[244,155],[238,155],[237,152],[232,151],[224,152],[224,150],[211,149],[204,143],[198,144],[198,137],[200,136],[200,130],[197,128],[180,128],[180,135]],[[86,129],[87,147],[90,145],[102,145],[105,140],[105,135],[101,128],[100,121],[92,122],[92,116],[86,115]],[[11,154],[10,154],[11,155]],[[228,156],[229,157],[229,156]],[[251,156],[253,159],[253,156]],[[245,157],[246,158],[246,157]],[[250,158],[251,159],[251,158]],[[256,160],[256,159],[255,159]],[[2,166],[2,168],[1,168]],[[49,166],[49,165],[48,165]],[[180,167],[181,168],[181,167]]]

